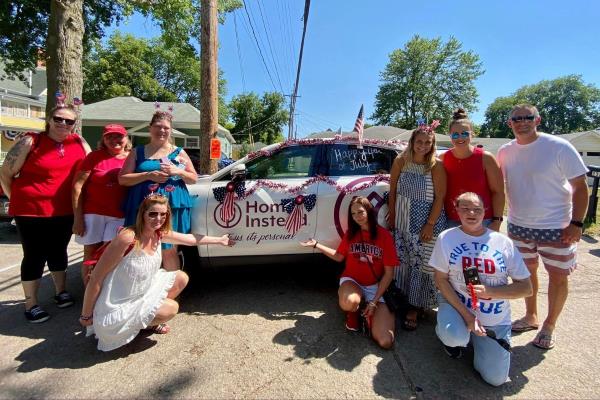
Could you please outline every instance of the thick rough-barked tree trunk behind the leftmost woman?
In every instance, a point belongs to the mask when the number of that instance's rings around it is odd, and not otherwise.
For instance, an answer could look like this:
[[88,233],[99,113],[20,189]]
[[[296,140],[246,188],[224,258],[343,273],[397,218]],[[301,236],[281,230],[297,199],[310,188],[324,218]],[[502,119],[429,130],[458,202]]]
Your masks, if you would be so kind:
[[[66,103],[81,98],[84,29],[83,0],[52,0],[46,38],[46,113],[56,104],[57,91],[66,96]],[[77,131],[81,132],[79,120]]]

